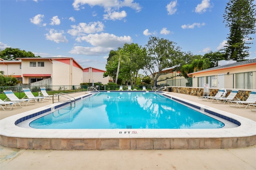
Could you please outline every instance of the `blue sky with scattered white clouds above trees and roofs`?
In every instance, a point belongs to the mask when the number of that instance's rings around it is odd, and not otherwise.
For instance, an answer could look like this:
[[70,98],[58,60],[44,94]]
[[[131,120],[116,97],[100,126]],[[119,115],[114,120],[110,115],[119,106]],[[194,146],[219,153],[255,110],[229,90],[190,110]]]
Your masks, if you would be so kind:
[[[204,55],[221,49],[229,34],[228,0],[0,0],[0,49],[41,57],[73,57],[105,70],[109,51],[124,43],[144,47],[150,36]],[[256,39],[256,34],[252,35]],[[256,40],[249,49],[256,58]]]

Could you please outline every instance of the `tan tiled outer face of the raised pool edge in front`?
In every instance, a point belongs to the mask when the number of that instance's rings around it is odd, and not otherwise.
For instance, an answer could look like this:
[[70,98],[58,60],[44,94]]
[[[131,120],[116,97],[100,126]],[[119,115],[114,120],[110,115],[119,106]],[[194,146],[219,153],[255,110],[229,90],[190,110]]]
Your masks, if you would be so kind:
[[9,148],[42,150],[219,149],[255,144],[256,135],[238,138],[15,138],[0,135]]

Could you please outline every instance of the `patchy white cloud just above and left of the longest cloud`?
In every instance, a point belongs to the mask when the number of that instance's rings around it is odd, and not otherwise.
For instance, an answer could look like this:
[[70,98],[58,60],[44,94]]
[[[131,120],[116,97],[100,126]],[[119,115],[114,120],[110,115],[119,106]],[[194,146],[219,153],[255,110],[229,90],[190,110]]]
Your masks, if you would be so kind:
[[79,23],[77,26],[72,25],[71,30],[68,30],[68,34],[72,36],[83,36],[85,34],[92,34],[96,32],[104,31],[104,24],[102,22],[90,22],[89,24],[86,23]]

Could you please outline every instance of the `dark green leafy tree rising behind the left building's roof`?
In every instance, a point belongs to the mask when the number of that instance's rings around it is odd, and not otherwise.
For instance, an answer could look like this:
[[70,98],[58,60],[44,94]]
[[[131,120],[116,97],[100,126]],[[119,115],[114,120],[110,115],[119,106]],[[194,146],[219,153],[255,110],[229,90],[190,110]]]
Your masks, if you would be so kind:
[[[16,58],[26,58],[26,57],[35,57],[34,53],[25,50],[20,50],[18,48],[8,47],[0,51],[0,58],[4,60],[16,60]],[[39,55],[36,57],[40,57]]]

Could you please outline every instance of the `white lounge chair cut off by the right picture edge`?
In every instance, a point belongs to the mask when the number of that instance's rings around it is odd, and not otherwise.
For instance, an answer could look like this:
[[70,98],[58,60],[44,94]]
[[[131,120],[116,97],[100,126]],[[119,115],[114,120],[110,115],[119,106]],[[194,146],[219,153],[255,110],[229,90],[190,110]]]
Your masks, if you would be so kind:
[[228,101],[230,107],[238,105],[240,109],[246,109],[250,104],[256,104],[256,91],[252,91],[246,101]]

